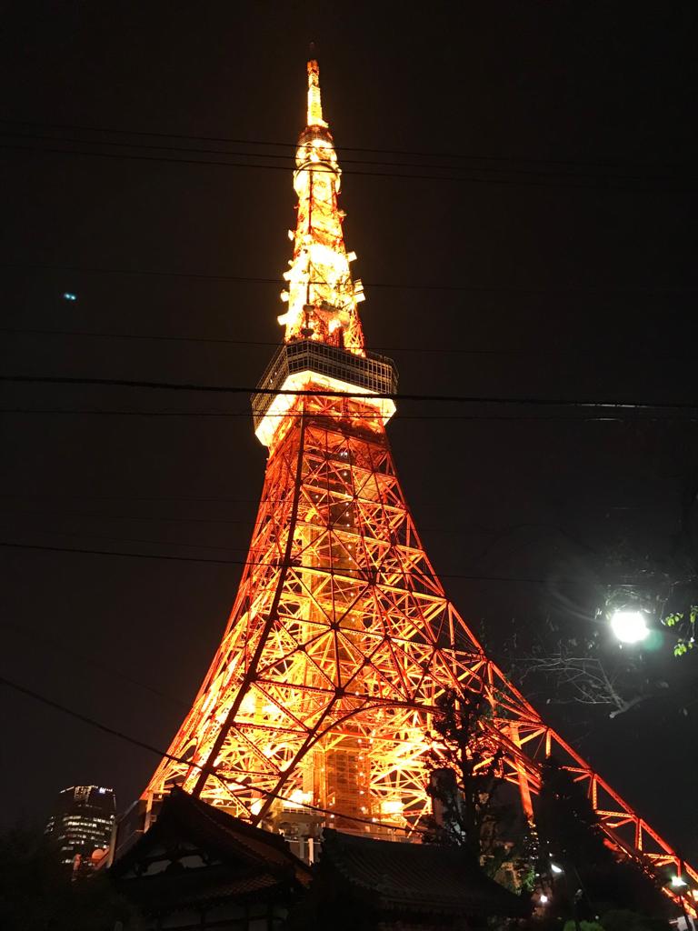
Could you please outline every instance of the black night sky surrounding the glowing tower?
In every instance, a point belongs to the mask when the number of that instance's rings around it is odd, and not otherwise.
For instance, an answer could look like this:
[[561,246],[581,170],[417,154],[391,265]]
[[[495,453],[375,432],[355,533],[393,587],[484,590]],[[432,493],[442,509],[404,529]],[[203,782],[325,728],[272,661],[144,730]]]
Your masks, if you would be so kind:
[[[3,333],[0,371],[256,382],[273,352],[264,343],[281,336],[279,287],[225,276],[286,267],[290,174],[201,162],[286,164],[258,156],[288,148],[258,143],[294,142],[302,128],[313,39],[347,169],[365,331],[396,358],[403,392],[698,400],[694,17],[692,4],[525,0],[418,14],[396,3],[9,5],[0,276],[2,326],[16,331]],[[0,408],[6,542],[244,559],[265,459],[246,398],[6,384]],[[7,413],[17,408],[74,412]],[[159,414],[125,413],[139,411]],[[619,539],[651,555],[672,545],[698,447],[688,421],[408,402],[400,413],[390,436],[437,570],[505,577],[447,586],[495,658],[547,616],[591,629],[595,560]],[[452,417],[463,413],[485,419]],[[0,560],[0,674],[167,747],[239,567],[12,548]],[[522,576],[547,581],[511,581]],[[669,685],[661,701],[614,721],[608,709],[549,714],[695,856],[698,672],[668,642],[653,663]],[[43,817],[74,782],[113,785],[122,806],[141,791],[146,751],[0,695],[5,823]]]

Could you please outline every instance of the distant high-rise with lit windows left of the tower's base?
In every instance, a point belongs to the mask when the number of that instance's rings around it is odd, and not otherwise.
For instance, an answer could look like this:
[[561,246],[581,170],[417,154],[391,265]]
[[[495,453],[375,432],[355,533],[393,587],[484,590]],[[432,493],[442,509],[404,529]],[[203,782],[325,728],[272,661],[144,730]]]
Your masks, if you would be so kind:
[[45,834],[66,870],[79,876],[95,868],[109,849],[115,815],[114,789],[71,786],[59,793]]

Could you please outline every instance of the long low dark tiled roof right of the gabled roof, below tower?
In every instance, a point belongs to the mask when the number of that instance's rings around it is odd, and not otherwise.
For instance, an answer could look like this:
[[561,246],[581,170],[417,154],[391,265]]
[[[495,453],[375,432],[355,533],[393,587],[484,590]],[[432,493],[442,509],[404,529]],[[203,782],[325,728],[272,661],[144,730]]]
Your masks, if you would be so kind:
[[326,829],[322,866],[377,896],[383,908],[470,915],[530,913],[527,899],[495,883],[457,847],[376,841]]

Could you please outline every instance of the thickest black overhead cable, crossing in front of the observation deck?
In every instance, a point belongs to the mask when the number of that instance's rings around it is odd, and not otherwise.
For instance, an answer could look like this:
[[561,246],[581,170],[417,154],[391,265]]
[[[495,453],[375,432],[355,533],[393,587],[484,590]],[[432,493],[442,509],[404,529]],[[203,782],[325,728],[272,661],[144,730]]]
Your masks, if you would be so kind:
[[[386,398],[396,401],[420,401],[430,403],[453,404],[492,404],[527,407],[562,407],[577,409],[609,409],[619,411],[687,411],[698,412],[698,403],[687,404],[683,401],[623,401],[617,399],[588,399],[588,398],[506,398],[503,396],[473,396],[473,395],[424,395],[424,394],[391,394],[362,392],[333,391],[330,389],[303,389],[289,390],[285,388],[262,388],[242,385],[199,385],[184,382],[153,382],[139,381],[126,378],[87,378],[56,375],[0,375],[0,382],[22,385],[95,385],[101,387],[127,387],[142,388],[157,391],[193,391],[213,394],[241,394],[241,395],[289,395],[298,398]],[[288,416],[282,414],[280,416]],[[298,416],[303,416],[298,413]]]

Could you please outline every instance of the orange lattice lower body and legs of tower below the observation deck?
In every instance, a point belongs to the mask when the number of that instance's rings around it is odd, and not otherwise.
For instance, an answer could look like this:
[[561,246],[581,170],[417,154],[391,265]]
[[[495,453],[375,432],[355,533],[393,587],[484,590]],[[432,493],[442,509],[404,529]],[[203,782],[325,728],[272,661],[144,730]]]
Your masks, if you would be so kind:
[[[419,542],[380,416],[356,399],[298,404],[305,416],[270,454],[221,648],[169,750],[190,765],[163,761],[149,789],[178,779],[257,821],[278,809],[276,796],[296,793],[336,808],[339,819],[419,830],[437,699],[447,689],[477,691],[488,697],[489,726],[528,814],[540,763],[555,756],[585,781],[616,846],[698,883],[483,654]],[[369,776],[364,797],[355,778],[340,807],[327,770],[342,749],[355,764],[364,757]]]

